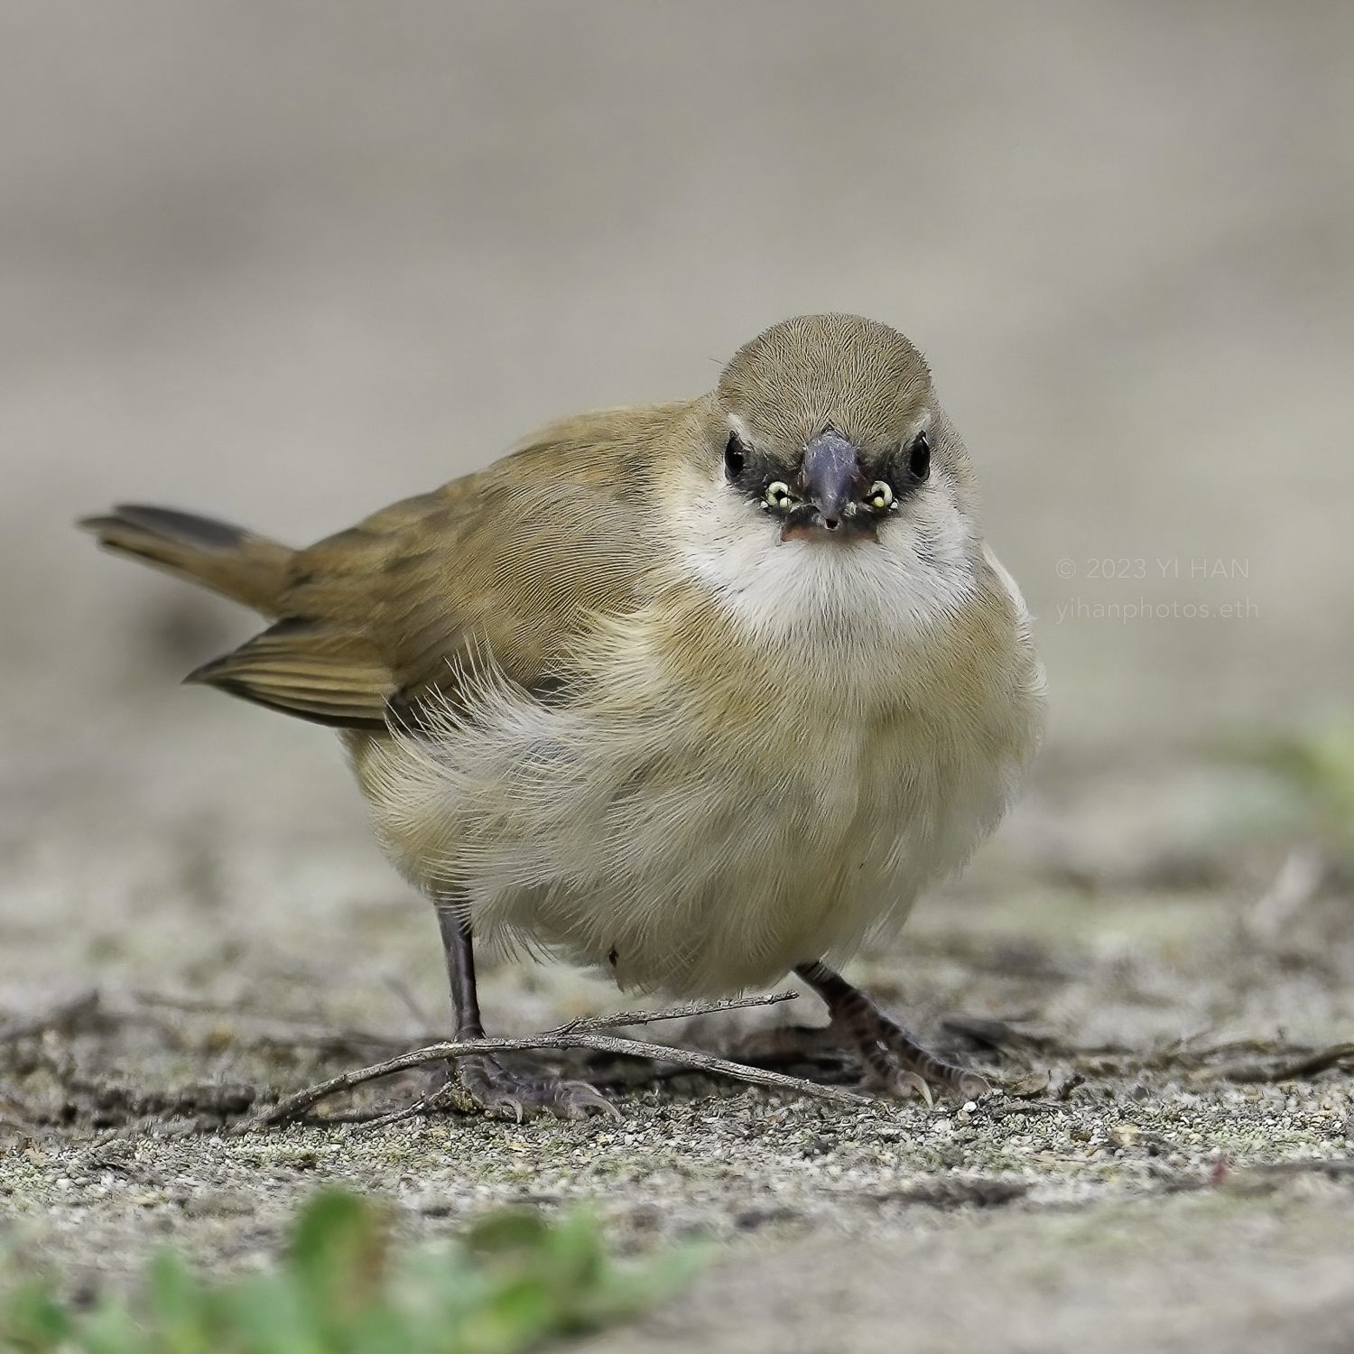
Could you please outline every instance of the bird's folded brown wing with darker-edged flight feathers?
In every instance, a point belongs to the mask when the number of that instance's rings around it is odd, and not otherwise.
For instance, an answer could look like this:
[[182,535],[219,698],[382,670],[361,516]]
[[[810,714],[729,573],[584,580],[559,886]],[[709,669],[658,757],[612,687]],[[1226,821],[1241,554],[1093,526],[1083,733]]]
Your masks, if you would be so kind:
[[349,728],[455,703],[486,661],[527,689],[551,685],[592,617],[645,597],[654,452],[682,408],[555,424],[298,551],[279,623],[191,680]]

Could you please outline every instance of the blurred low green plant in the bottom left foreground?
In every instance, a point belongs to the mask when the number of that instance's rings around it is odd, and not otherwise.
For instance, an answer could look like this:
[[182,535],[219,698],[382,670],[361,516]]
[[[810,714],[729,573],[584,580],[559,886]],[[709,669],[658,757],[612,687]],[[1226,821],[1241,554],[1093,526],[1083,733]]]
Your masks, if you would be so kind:
[[693,1247],[643,1266],[608,1259],[597,1223],[506,1210],[456,1248],[391,1251],[382,1209],[347,1192],[314,1198],[269,1274],[211,1284],[173,1254],[130,1300],[73,1312],[50,1282],[0,1300],[14,1354],[515,1354],[620,1320],[672,1292]]

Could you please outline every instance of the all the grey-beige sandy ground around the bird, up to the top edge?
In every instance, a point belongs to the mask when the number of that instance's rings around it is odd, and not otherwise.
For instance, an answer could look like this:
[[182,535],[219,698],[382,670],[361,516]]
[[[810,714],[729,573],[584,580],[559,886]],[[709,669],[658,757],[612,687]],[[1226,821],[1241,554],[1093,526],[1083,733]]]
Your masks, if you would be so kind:
[[[1354,1183],[1320,1164],[1354,1156],[1349,1074],[1282,1075],[1350,1037],[1349,883],[1266,925],[1309,825],[1215,751],[1347,697],[1354,12],[58,0],[0,28],[12,1244],[73,1286],[165,1240],[250,1266],[348,1179],[410,1238],[531,1198],[623,1247],[719,1239],[597,1349],[1349,1343]],[[324,731],[176,685],[250,620],[70,519],[303,540],[550,416],[699,391],[810,309],[927,352],[1039,616],[1030,795],[854,971],[1006,1090],[856,1112],[607,1066],[620,1125],[223,1133],[440,1033],[435,927]],[[620,1005],[486,983],[504,1033]]]

